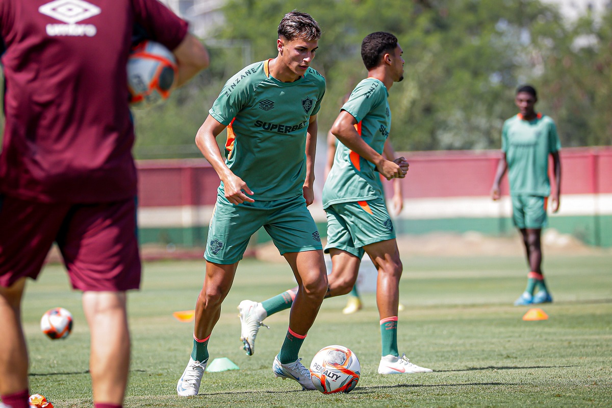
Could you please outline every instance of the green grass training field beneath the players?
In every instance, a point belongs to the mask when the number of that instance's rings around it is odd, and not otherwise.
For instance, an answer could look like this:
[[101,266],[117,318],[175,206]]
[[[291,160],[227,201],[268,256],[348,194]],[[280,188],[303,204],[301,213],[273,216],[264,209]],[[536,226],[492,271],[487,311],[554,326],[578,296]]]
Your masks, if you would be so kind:
[[[379,376],[378,312],[373,294],[363,311],[345,316],[346,298],[324,302],[302,347],[306,366],[323,346],[342,344],[362,365],[357,388],[346,395],[299,391],[274,378],[288,311],[266,320],[253,357],[240,349],[237,304],[263,300],[293,285],[288,266],[245,260],[209,344],[211,359],[228,357],[239,371],[204,374],[200,395],[176,396],[176,381],[192,347],[193,323],[172,317],[193,309],[203,261],[147,263],[143,289],[129,298],[132,368],[125,407],[610,407],[612,406],[612,254],[551,255],[544,270],[554,303],[550,319],[524,322],[526,307],[512,302],[525,284],[516,257],[407,257],[401,279],[398,342],[430,374]],[[72,311],[68,339],[50,341],[39,329],[47,309]],[[60,407],[91,406],[89,334],[80,293],[63,268],[50,265],[28,285],[23,319],[31,357],[31,393]],[[1,335],[1,334],[0,334]]]

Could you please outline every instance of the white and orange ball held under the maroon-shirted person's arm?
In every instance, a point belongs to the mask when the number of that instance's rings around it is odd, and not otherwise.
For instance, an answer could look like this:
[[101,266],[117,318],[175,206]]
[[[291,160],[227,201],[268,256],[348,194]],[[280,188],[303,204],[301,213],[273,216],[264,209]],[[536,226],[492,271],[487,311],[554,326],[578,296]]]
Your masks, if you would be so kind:
[[138,43],[127,61],[130,105],[146,108],[167,99],[176,75],[176,58],[168,48],[151,40]]

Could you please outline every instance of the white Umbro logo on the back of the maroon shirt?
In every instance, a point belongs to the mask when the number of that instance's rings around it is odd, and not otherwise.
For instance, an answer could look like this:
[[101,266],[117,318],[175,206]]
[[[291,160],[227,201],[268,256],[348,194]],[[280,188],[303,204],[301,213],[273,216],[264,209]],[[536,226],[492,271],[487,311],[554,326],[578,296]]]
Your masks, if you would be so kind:
[[48,24],[49,36],[93,37],[97,28],[92,24],[76,24],[99,15],[102,10],[83,0],[55,0],[39,7],[39,12],[66,24]]

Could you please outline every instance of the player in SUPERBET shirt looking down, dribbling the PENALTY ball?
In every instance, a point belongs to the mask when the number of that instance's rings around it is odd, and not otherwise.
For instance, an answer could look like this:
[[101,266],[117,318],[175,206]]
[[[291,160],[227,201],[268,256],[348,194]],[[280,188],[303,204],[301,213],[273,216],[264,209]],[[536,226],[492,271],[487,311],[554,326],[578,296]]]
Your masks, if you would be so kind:
[[[278,25],[278,55],[245,67],[228,80],[196,144],[221,179],[206,244],[206,277],[196,302],[193,350],[177,383],[197,395],[207,344],[248,240],[264,227],[299,284],[289,328],[272,370],[314,390],[298,353],[327,290],[321,238],[306,208],[314,200],[316,114],[325,80],[310,67],[321,29],[293,11]],[[225,160],[217,136],[227,128]]]

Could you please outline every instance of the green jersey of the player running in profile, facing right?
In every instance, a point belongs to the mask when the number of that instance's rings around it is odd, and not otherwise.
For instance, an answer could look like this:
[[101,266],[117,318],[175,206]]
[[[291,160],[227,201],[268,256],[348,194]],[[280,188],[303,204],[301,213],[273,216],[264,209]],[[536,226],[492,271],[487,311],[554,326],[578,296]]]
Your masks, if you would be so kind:
[[[386,86],[376,78],[362,80],[343,105],[357,120],[357,132],[371,148],[383,154],[391,128]],[[323,187],[323,208],[335,203],[384,198],[383,183],[376,166],[338,143],[334,165]]]

